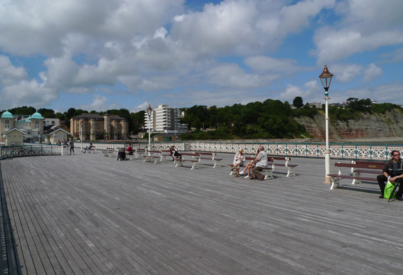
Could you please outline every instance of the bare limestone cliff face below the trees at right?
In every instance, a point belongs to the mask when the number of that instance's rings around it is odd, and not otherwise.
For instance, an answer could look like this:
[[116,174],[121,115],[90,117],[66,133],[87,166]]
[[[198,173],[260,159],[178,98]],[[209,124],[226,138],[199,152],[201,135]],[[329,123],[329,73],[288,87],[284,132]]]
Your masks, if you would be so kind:
[[[295,118],[315,139],[325,139],[324,112],[314,118]],[[403,112],[393,109],[385,114],[363,114],[359,119],[329,121],[329,139],[390,138],[403,136]]]

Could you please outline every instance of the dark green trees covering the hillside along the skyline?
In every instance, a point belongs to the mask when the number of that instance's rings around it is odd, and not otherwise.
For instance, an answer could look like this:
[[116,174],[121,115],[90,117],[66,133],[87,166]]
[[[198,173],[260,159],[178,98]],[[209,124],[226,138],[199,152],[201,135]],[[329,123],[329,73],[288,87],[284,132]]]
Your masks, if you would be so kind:
[[[286,101],[268,99],[261,102],[248,103],[247,105],[235,104],[232,106],[207,107],[195,105],[189,108],[181,108],[185,116],[181,123],[188,124],[188,134],[183,134],[183,140],[190,139],[290,139],[309,137],[305,127],[297,123],[293,118],[308,116],[313,118],[318,112],[324,110],[324,105],[317,109],[308,103],[304,105],[301,97],[297,96],[293,103],[294,108]],[[383,114],[392,109],[402,108],[391,103],[374,104],[367,99],[348,98],[347,103],[329,106],[330,122],[347,121],[361,118],[365,114]],[[5,111],[5,110],[3,110]],[[12,114],[33,114],[33,107],[17,107],[9,109]],[[60,118],[69,127],[69,119],[83,113],[96,113],[83,109],[70,108],[67,112],[55,113],[52,109],[38,109],[42,116],[47,118]],[[137,134],[144,125],[144,112],[130,113],[127,109],[110,109],[108,114],[116,114],[129,121],[129,132]],[[105,114],[100,112],[99,114]]]

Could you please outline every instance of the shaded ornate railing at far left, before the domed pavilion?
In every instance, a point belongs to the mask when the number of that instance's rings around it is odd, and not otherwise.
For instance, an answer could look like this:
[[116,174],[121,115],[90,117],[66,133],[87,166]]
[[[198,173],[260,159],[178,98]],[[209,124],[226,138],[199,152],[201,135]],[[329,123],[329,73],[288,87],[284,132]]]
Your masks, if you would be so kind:
[[0,147],[0,159],[10,157],[30,157],[51,154],[61,154],[61,145],[56,144],[33,144],[33,145],[12,145]]

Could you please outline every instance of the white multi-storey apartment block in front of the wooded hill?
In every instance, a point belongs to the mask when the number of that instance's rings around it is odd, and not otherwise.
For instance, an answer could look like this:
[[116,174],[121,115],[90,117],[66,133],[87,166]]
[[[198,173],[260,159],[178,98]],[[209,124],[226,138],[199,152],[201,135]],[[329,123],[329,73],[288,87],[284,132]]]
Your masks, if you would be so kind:
[[150,120],[147,111],[145,111],[145,129],[148,132],[149,123],[151,123],[151,132],[186,133],[188,125],[179,123],[180,115],[181,112],[178,108],[158,105],[156,109],[153,109]]

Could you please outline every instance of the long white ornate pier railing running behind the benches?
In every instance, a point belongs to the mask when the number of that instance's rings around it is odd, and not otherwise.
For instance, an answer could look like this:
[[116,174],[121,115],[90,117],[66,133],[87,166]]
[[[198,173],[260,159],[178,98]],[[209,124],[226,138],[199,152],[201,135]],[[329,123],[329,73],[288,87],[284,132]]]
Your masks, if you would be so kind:
[[[93,143],[97,150],[124,147],[124,143]],[[127,143],[126,143],[127,144]],[[242,148],[246,154],[254,154],[260,145],[265,146],[272,156],[288,157],[324,157],[324,143],[231,143],[220,141],[195,142],[153,142],[151,150],[169,150],[174,144],[179,151],[203,151],[235,153]],[[83,147],[90,143],[83,143]],[[132,142],[132,148],[147,149],[147,142]],[[76,143],[79,147],[80,143]],[[333,159],[368,159],[386,161],[392,150],[403,152],[403,144],[374,143],[330,143],[330,157]]]

